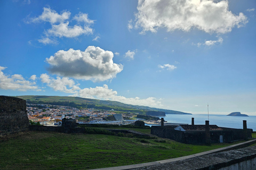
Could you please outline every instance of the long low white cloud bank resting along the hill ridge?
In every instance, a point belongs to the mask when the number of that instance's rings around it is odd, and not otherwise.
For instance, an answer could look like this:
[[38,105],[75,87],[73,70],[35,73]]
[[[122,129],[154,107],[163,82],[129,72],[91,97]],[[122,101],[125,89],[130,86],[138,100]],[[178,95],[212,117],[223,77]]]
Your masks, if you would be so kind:
[[82,89],[73,96],[79,96],[84,98],[97,98],[97,99],[103,99],[103,100],[114,100],[114,101],[119,101],[125,104],[131,104],[131,105],[151,106],[151,107],[163,106],[161,104],[161,100],[160,99],[157,100],[154,97],[140,99],[139,97],[126,98],[124,96],[117,96],[117,91],[114,91],[113,89],[109,89],[106,84],[104,84],[103,87]]

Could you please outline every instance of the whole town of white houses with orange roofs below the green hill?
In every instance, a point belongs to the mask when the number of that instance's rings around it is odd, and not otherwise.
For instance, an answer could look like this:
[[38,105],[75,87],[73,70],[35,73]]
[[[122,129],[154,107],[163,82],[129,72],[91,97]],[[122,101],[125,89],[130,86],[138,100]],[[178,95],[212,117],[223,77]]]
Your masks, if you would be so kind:
[[140,118],[135,114],[117,114],[114,109],[110,111],[98,110],[94,108],[77,109],[68,106],[55,106],[49,104],[28,104],[27,115],[30,124],[45,126],[59,126],[63,118],[74,119],[79,124],[98,123],[98,124],[131,124]]

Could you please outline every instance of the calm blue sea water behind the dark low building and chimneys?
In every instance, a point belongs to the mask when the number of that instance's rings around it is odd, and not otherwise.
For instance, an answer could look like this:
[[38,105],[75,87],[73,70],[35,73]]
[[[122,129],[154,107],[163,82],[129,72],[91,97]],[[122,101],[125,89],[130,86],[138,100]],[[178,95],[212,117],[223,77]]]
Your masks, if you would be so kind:
[[[188,123],[191,124],[191,117],[194,117],[195,124],[205,124],[208,115],[172,115],[166,114],[164,120],[168,123]],[[161,117],[160,117],[161,118]],[[256,131],[256,116],[239,117],[226,115],[209,115],[210,124],[220,127],[243,129],[243,120],[247,121],[247,128]]]

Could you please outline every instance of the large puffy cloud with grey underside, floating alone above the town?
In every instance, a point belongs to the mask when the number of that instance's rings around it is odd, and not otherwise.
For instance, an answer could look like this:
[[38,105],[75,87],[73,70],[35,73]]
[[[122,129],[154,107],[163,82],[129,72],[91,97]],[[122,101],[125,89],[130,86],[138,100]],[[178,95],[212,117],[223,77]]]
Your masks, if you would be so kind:
[[59,50],[46,58],[50,72],[76,79],[105,81],[113,79],[123,70],[122,64],[113,62],[114,54],[100,47],[89,46],[84,52],[70,48]]

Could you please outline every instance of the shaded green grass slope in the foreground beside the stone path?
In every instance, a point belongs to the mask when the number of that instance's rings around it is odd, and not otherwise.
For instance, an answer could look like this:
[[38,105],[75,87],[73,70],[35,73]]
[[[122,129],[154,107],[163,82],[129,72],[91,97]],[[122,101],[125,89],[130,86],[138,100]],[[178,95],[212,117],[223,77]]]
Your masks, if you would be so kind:
[[0,169],[93,169],[153,162],[231,144],[185,145],[168,139],[27,132],[0,142]]

